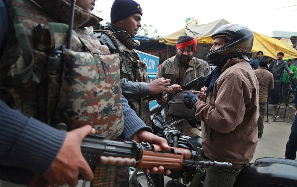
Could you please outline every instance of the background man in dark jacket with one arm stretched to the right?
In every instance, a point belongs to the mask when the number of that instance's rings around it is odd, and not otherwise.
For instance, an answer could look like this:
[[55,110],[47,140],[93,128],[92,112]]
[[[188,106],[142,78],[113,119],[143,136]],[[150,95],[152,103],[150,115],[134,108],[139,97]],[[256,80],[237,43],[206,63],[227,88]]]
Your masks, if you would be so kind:
[[268,71],[273,74],[274,79],[274,89],[271,91],[270,95],[270,104],[273,104],[274,107],[277,107],[279,102],[279,92],[282,85],[283,70],[286,69],[289,74],[294,74],[288,67],[287,63],[282,59],[283,57],[284,53],[278,52],[277,60],[272,61],[268,68]]

